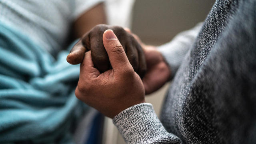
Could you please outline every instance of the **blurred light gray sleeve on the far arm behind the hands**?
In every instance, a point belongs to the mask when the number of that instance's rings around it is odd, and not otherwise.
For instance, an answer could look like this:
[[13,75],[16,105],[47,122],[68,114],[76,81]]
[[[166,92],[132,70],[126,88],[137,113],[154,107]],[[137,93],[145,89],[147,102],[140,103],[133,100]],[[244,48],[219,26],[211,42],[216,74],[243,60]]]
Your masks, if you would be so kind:
[[202,22],[198,23],[194,28],[179,33],[172,41],[158,47],[170,66],[172,76],[176,73],[184,56],[194,43],[202,24]]

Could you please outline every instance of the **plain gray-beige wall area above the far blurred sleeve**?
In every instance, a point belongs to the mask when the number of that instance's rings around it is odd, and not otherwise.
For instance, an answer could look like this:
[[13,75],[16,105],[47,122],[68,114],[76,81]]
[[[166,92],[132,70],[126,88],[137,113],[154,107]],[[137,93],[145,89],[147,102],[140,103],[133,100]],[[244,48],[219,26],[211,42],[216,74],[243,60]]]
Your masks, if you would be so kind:
[[204,21],[215,0],[136,0],[132,31],[148,44],[163,44]]

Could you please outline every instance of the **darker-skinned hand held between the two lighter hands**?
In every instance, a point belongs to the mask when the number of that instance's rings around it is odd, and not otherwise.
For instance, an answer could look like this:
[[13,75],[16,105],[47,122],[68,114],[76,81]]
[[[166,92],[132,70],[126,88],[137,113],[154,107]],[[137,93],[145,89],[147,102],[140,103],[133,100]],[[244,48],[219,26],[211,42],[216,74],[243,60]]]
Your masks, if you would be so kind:
[[79,64],[82,62],[85,52],[91,50],[95,68],[101,73],[111,69],[108,55],[102,42],[103,33],[107,29],[114,31],[134,71],[142,78],[146,72],[146,60],[143,50],[134,37],[119,26],[108,26],[104,24],[95,26],[72,48],[70,54],[67,56],[67,61],[70,64]]

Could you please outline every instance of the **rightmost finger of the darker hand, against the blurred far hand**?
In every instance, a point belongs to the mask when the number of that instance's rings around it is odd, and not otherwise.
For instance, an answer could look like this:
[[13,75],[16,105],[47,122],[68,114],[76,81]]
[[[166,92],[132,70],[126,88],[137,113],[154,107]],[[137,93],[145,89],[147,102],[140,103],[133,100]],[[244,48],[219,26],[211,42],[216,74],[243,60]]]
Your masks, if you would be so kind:
[[147,70],[146,58],[140,44],[134,38],[132,38],[132,41],[138,52],[138,71],[136,72],[140,78],[143,78]]

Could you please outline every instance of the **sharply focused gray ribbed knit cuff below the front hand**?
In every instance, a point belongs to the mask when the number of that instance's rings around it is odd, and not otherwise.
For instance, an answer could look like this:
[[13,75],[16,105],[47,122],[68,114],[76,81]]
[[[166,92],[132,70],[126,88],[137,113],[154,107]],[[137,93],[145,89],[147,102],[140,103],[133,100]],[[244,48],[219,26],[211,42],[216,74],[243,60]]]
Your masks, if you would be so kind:
[[142,103],[123,110],[113,123],[127,144],[180,144],[181,140],[168,133],[154,112],[152,104]]

